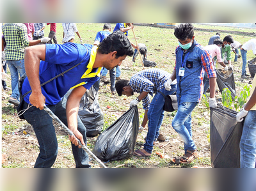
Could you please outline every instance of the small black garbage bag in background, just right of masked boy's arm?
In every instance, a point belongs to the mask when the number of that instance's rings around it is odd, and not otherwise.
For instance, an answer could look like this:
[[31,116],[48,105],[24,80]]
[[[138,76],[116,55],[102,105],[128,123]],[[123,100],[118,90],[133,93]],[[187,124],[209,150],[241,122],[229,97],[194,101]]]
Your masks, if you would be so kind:
[[236,85],[233,70],[228,69],[227,72],[223,73],[223,70],[216,70],[217,73],[217,84],[222,93],[224,88],[228,88],[231,92],[232,100],[236,97]]

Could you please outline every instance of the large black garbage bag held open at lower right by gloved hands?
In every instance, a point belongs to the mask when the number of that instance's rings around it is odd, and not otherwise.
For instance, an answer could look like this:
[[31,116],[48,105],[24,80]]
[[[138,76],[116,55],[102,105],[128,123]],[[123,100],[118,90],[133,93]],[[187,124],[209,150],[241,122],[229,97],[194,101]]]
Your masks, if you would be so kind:
[[220,104],[211,108],[211,165],[214,168],[240,168],[243,121],[237,123],[236,114]]

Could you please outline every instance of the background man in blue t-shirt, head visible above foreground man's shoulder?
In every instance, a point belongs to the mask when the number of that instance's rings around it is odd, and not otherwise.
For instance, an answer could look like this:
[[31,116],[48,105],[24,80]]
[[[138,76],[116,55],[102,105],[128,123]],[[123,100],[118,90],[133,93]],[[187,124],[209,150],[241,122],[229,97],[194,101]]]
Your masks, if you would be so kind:
[[[99,31],[96,34],[93,45],[99,45],[99,43],[102,42],[102,40],[104,40],[104,38],[106,38],[109,34],[111,34],[111,24],[106,23],[103,26],[103,31]],[[102,82],[108,82],[109,83],[108,79],[106,78],[107,73],[108,73],[108,69],[103,67],[101,75],[100,75],[100,80]],[[115,68],[109,70],[109,75],[110,75],[110,90],[111,90],[111,93],[114,95],[115,91],[116,91],[116,88],[115,88],[116,70],[115,70]],[[98,80],[97,81],[97,86],[99,86],[99,83],[100,82]]]

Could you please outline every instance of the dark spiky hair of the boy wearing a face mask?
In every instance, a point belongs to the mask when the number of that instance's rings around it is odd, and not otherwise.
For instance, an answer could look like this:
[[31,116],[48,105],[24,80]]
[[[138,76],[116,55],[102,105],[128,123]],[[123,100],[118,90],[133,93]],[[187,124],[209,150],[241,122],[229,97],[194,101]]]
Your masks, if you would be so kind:
[[192,39],[194,36],[194,26],[191,23],[179,24],[174,29],[174,35],[180,40]]

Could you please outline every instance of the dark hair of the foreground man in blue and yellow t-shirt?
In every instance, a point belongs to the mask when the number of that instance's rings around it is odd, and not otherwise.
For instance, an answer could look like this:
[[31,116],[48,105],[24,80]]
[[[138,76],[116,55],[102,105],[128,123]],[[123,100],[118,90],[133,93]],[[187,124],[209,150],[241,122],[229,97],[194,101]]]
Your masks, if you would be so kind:
[[125,55],[132,56],[134,53],[127,36],[120,30],[109,34],[98,47],[100,54],[109,54],[109,52],[116,51],[116,58]]

